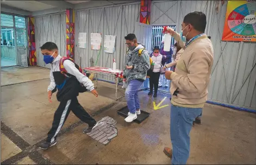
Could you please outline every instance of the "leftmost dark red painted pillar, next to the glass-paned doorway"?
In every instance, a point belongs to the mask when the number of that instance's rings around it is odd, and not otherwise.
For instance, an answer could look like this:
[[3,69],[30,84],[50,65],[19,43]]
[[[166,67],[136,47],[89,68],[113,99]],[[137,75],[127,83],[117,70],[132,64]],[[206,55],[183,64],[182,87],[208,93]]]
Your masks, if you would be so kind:
[[29,65],[36,65],[36,51],[35,51],[35,18],[28,17],[28,43],[29,43]]

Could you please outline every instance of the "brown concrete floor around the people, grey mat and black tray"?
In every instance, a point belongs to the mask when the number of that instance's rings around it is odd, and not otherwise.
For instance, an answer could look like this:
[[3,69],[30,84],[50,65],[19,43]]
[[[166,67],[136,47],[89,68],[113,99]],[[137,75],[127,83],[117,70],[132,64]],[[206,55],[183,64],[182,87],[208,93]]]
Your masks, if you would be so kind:
[[[35,74],[42,75],[40,69],[34,70],[34,74],[31,71],[27,69],[25,73],[20,69],[13,74],[23,72],[23,75],[30,74],[32,79]],[[1,87],[2,164],[170,164],[171,160],[163,153],[164,147],[171,147],[170,100],[166,98],[162,103],[168,104],[167,107],[153,109],[153,102],[158,104],[168,95],[159,94],[154,99],[147,96],[148,91],[140,91],[141,109],[151,115],[140,124],[126,123],[116,113],[126,106],[124,98],[115,101],[115,85],[99,82],[99,97],[83,93],[79,95],[79,102],[96,120],[104,116],[114,118],[118,136],[104,146],[84,135],[82,130],[86,124],[71,113],[58,136],[57,145],[40,150],[36,146],[46,137],[59,103],[55,95],[53,103],[48,103],[49,79],[16,83]],[[118,95],[123,92],[118,91]],[[188,164],[256,163],[255,114],[205,104],[202,125],[193,127],[190,135]]]

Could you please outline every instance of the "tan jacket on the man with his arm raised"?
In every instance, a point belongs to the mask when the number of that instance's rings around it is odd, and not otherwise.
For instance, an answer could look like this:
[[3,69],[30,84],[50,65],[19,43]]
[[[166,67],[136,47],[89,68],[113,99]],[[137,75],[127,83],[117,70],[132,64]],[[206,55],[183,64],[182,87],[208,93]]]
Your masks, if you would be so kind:
[[198,37],[185,47],[177,32],[174,39],[184,49],[177,62],[175,72],[171,74],[171,103],[180,107],[203,108],[207,101],[211,68],[213,67],[213,44],[207,35]]

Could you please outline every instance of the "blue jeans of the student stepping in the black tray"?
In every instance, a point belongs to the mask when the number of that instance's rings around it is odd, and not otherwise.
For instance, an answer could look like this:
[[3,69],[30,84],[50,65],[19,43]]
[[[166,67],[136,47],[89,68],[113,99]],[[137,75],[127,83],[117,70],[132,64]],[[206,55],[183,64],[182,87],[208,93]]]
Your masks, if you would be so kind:
[[138,80],[132,80],[128,83],[128,87],[126,88],[126,101],[131,114],[135,114],[136,109],[140,109],[138,89],[142,83],[143,82]]

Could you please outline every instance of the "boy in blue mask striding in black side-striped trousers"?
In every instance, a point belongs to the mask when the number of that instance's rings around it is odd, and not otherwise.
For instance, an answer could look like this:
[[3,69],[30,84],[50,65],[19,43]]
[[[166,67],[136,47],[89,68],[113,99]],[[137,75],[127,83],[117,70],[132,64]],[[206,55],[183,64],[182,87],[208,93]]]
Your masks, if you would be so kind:
[[57,135],[71,110],[80,120],[88,124],[88,128],[83,130],[84,134],[89,133],[97,126],[97,122],[79,104],[77,96],[81,90],[83,92],[90,90],[96,97],[98,97],[98,93],[94,89],[92,81],[82,71],[79,71],[78,65],[58,54],[58,47],[55,43],[46,42],[42,45],[41,52],[43,61],[46,64],[51,64],[51,83],[47,90],[48,100],[52,102],[52,94],[58,89],[57,100],[60,102],[54,113],[52,128],[48,132],[47,139],[39,146],[41,149],[48,149],[57,143]]

